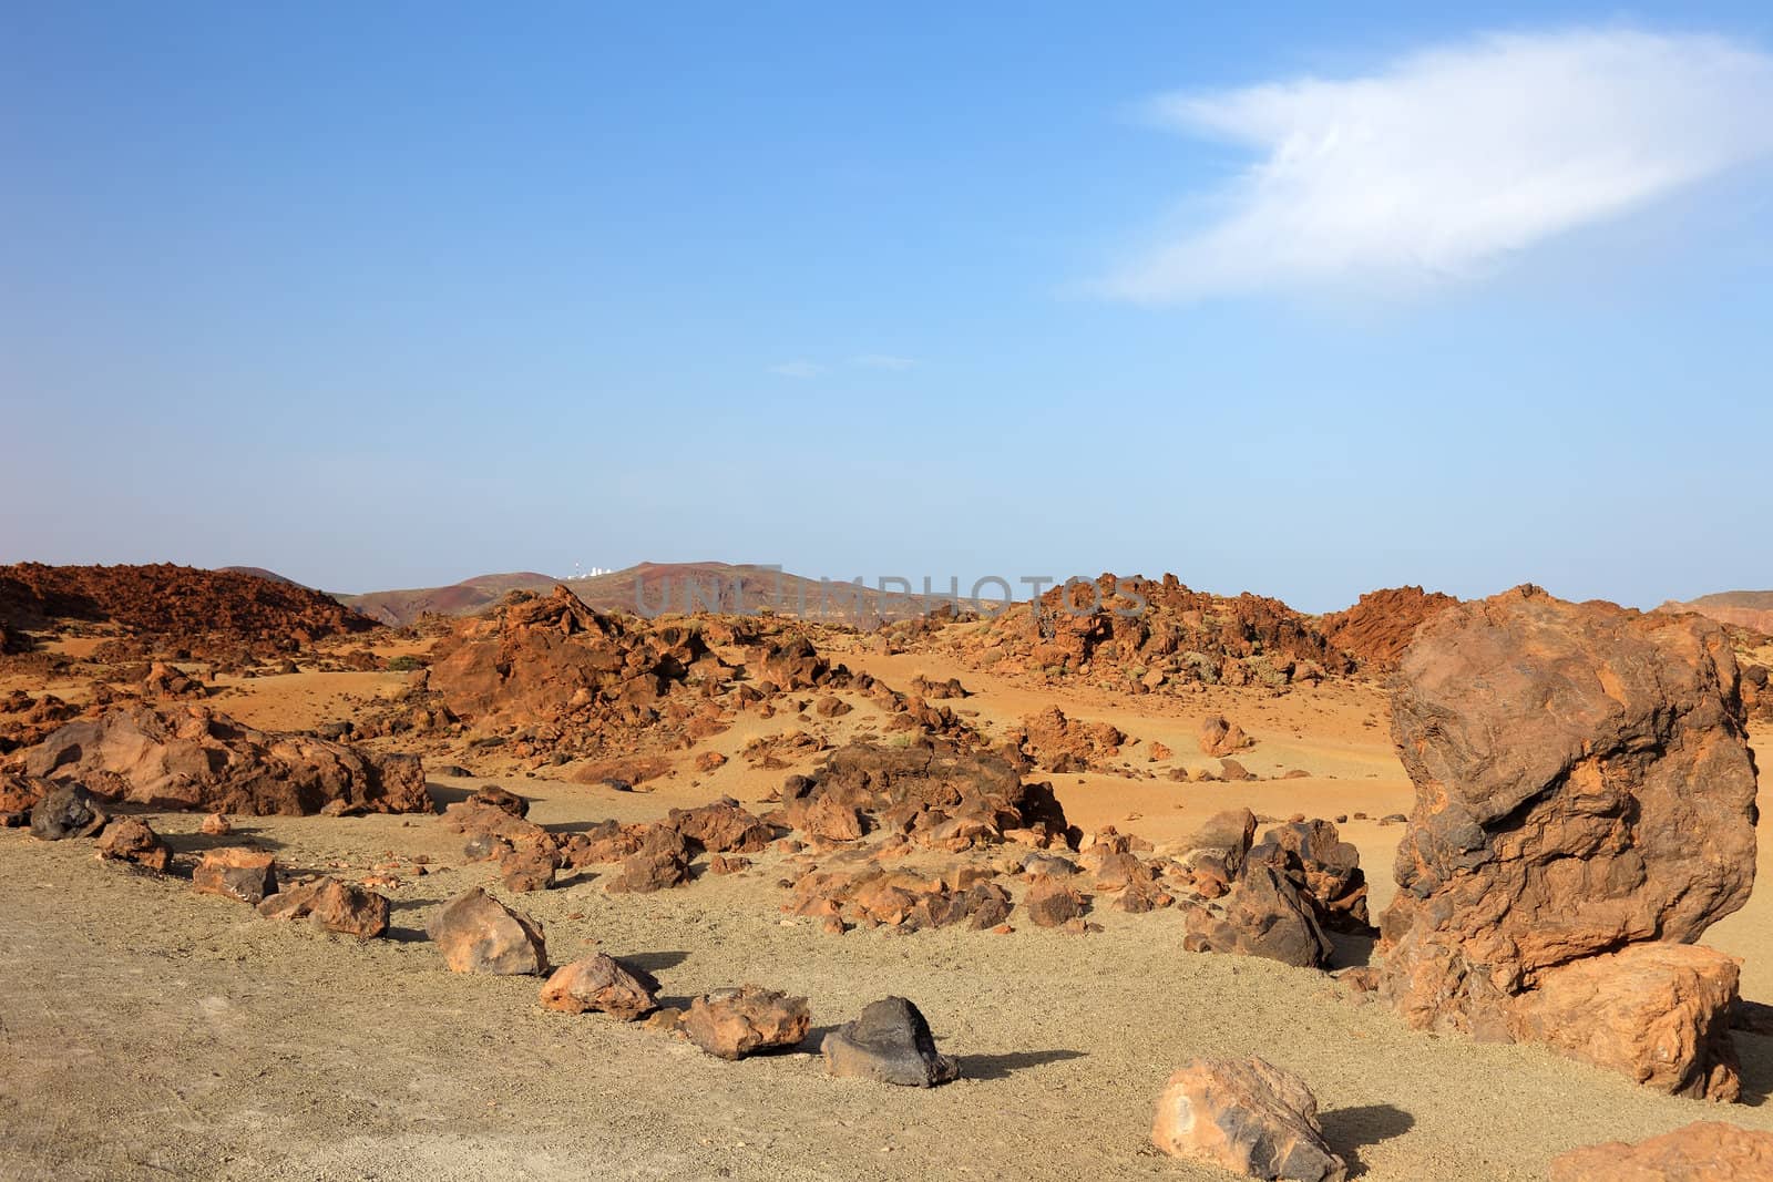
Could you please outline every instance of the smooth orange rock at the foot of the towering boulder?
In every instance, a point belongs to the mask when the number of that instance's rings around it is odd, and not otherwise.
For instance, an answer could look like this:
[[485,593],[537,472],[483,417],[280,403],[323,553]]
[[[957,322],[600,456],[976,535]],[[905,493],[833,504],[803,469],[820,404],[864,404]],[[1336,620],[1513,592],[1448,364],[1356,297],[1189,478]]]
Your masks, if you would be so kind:
[[1656,1092],[1729,1102],[1741,1093],[1729,1031],[1738,971],[1711,948],[1628,945],[1544,973],[1509,1028]]

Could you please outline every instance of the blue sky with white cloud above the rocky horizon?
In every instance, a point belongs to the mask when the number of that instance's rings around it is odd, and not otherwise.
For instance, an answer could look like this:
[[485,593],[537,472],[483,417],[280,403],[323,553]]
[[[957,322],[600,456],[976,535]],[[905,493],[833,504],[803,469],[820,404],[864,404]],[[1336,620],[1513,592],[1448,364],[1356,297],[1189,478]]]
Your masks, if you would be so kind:
[[4,5],[0,560],[1773,587],[1773,11],[1447,7]]

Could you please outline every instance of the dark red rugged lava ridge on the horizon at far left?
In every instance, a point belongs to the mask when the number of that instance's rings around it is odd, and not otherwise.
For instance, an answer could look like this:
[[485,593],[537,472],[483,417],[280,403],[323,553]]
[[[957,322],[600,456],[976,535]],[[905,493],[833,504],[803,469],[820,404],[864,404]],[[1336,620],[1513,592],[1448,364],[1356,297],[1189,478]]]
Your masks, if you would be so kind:
[[0,567],[0,620],[41,627],[50,620],[121,624],[138,636],[183,647],[289,652],[326,636],[381,627],[321,592],[238,571],[145,567]]

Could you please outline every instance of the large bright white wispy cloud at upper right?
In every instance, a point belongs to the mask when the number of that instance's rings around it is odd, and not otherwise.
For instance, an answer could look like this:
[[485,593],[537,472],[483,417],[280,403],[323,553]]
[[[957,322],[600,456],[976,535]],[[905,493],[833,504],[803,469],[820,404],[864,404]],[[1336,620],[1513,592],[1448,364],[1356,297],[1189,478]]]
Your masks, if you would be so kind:
[[1161,301],[1410,285],[1624,213],[1773,151],[1773,58],[1709,35],[1486,35],[1344,82],[1151,105],[1264,159],[1218,216],[1101,284]]

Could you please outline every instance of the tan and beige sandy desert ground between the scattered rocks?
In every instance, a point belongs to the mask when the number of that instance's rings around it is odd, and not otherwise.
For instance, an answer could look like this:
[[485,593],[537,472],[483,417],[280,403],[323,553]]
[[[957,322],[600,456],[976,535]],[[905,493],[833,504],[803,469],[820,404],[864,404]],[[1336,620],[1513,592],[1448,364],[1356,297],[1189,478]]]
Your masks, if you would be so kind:
[[[860,642],[833,656],[890,684],[957,675],[973,691],[957,709],[988,728],[1051,702],[1112,721],[1140,741],[1126,762],[1158,771],[1204,766],[1195,725],[1222,711],[1257,739],[1241,757],[1252,771],[1308,773],[1250,783],[1055,776],[1085,829],[1163,840],[1236,805],[1371,819],[1411,805],[1385,695],[1371,682],[1172,700],[1055,691]],[[261,677],[215,705],[261,727],[307,727],[339,718],[348,696],[399,684],[397,673]],[[837,741],[878,712],[840,696],[855,712],[812,723]],[[766,730],[782,719],[741,719],[697,751],[736,755]],[[1177,755],[1147,764],[1151,741]],[[784,774],[741,758],[695,774],[688,762],[631,794],[528,774],[431,782],[445,803],[502,783],[534,799],[532,820],[571,829],[722,794],[761,801]],[[814,1031],[796,1053],[729,1063],[642,1024],[544,1012],[535,978],[445,971],[422,936],[427,913],[472,884],[502,891],[491,865],[465,865],[459,835],[431,819],[241,819],[230,838],[202,836],[197,815],[151,820],[177,852],[245,836],[291,868],[346,877],[397,858],[408,872],[388,890],[394,937],[356,943],[273,923],[179,877],[98,865],[90,844],[0,831],[0,1178],[1222,1178],[1151,1148],[1152,1100],[1193,1056],[1250,1053],[1310,1083],[1330,1143],[1374,1182],[1543,1178],[1566,1148],[1700,1118],[1773,1129],[1769,1038],[1738,1035],[1743,1104],[1670,1099],[1544,1047],[1406,1030],[1323,973],[1183,952],[1174,909],[1103,907],[1090,916],[1103,930],[1082,937],[1027,923],[839,937],[782,916],[773,852],[656,895],[608,895],[594,872],[512,898],[546,927],[557,964],[589,950],[631,959],[667,999],[741,982],[810,998]],[[1374,913],[1392,891],[1401,831],[1342,826],[1369,868]],[[433,859],[426,875],[410,872],[418,854]],[[1746,959],[1745,998],[1773,1001],[1773,893],[1757,893],[1707,943]],[[1365,955],[1362,941],[1339,943],[1339,964]],[[824,1074],[823,1031],[883,994],[922,1007],[961,1058],[961,1083],[926,1092]]]

